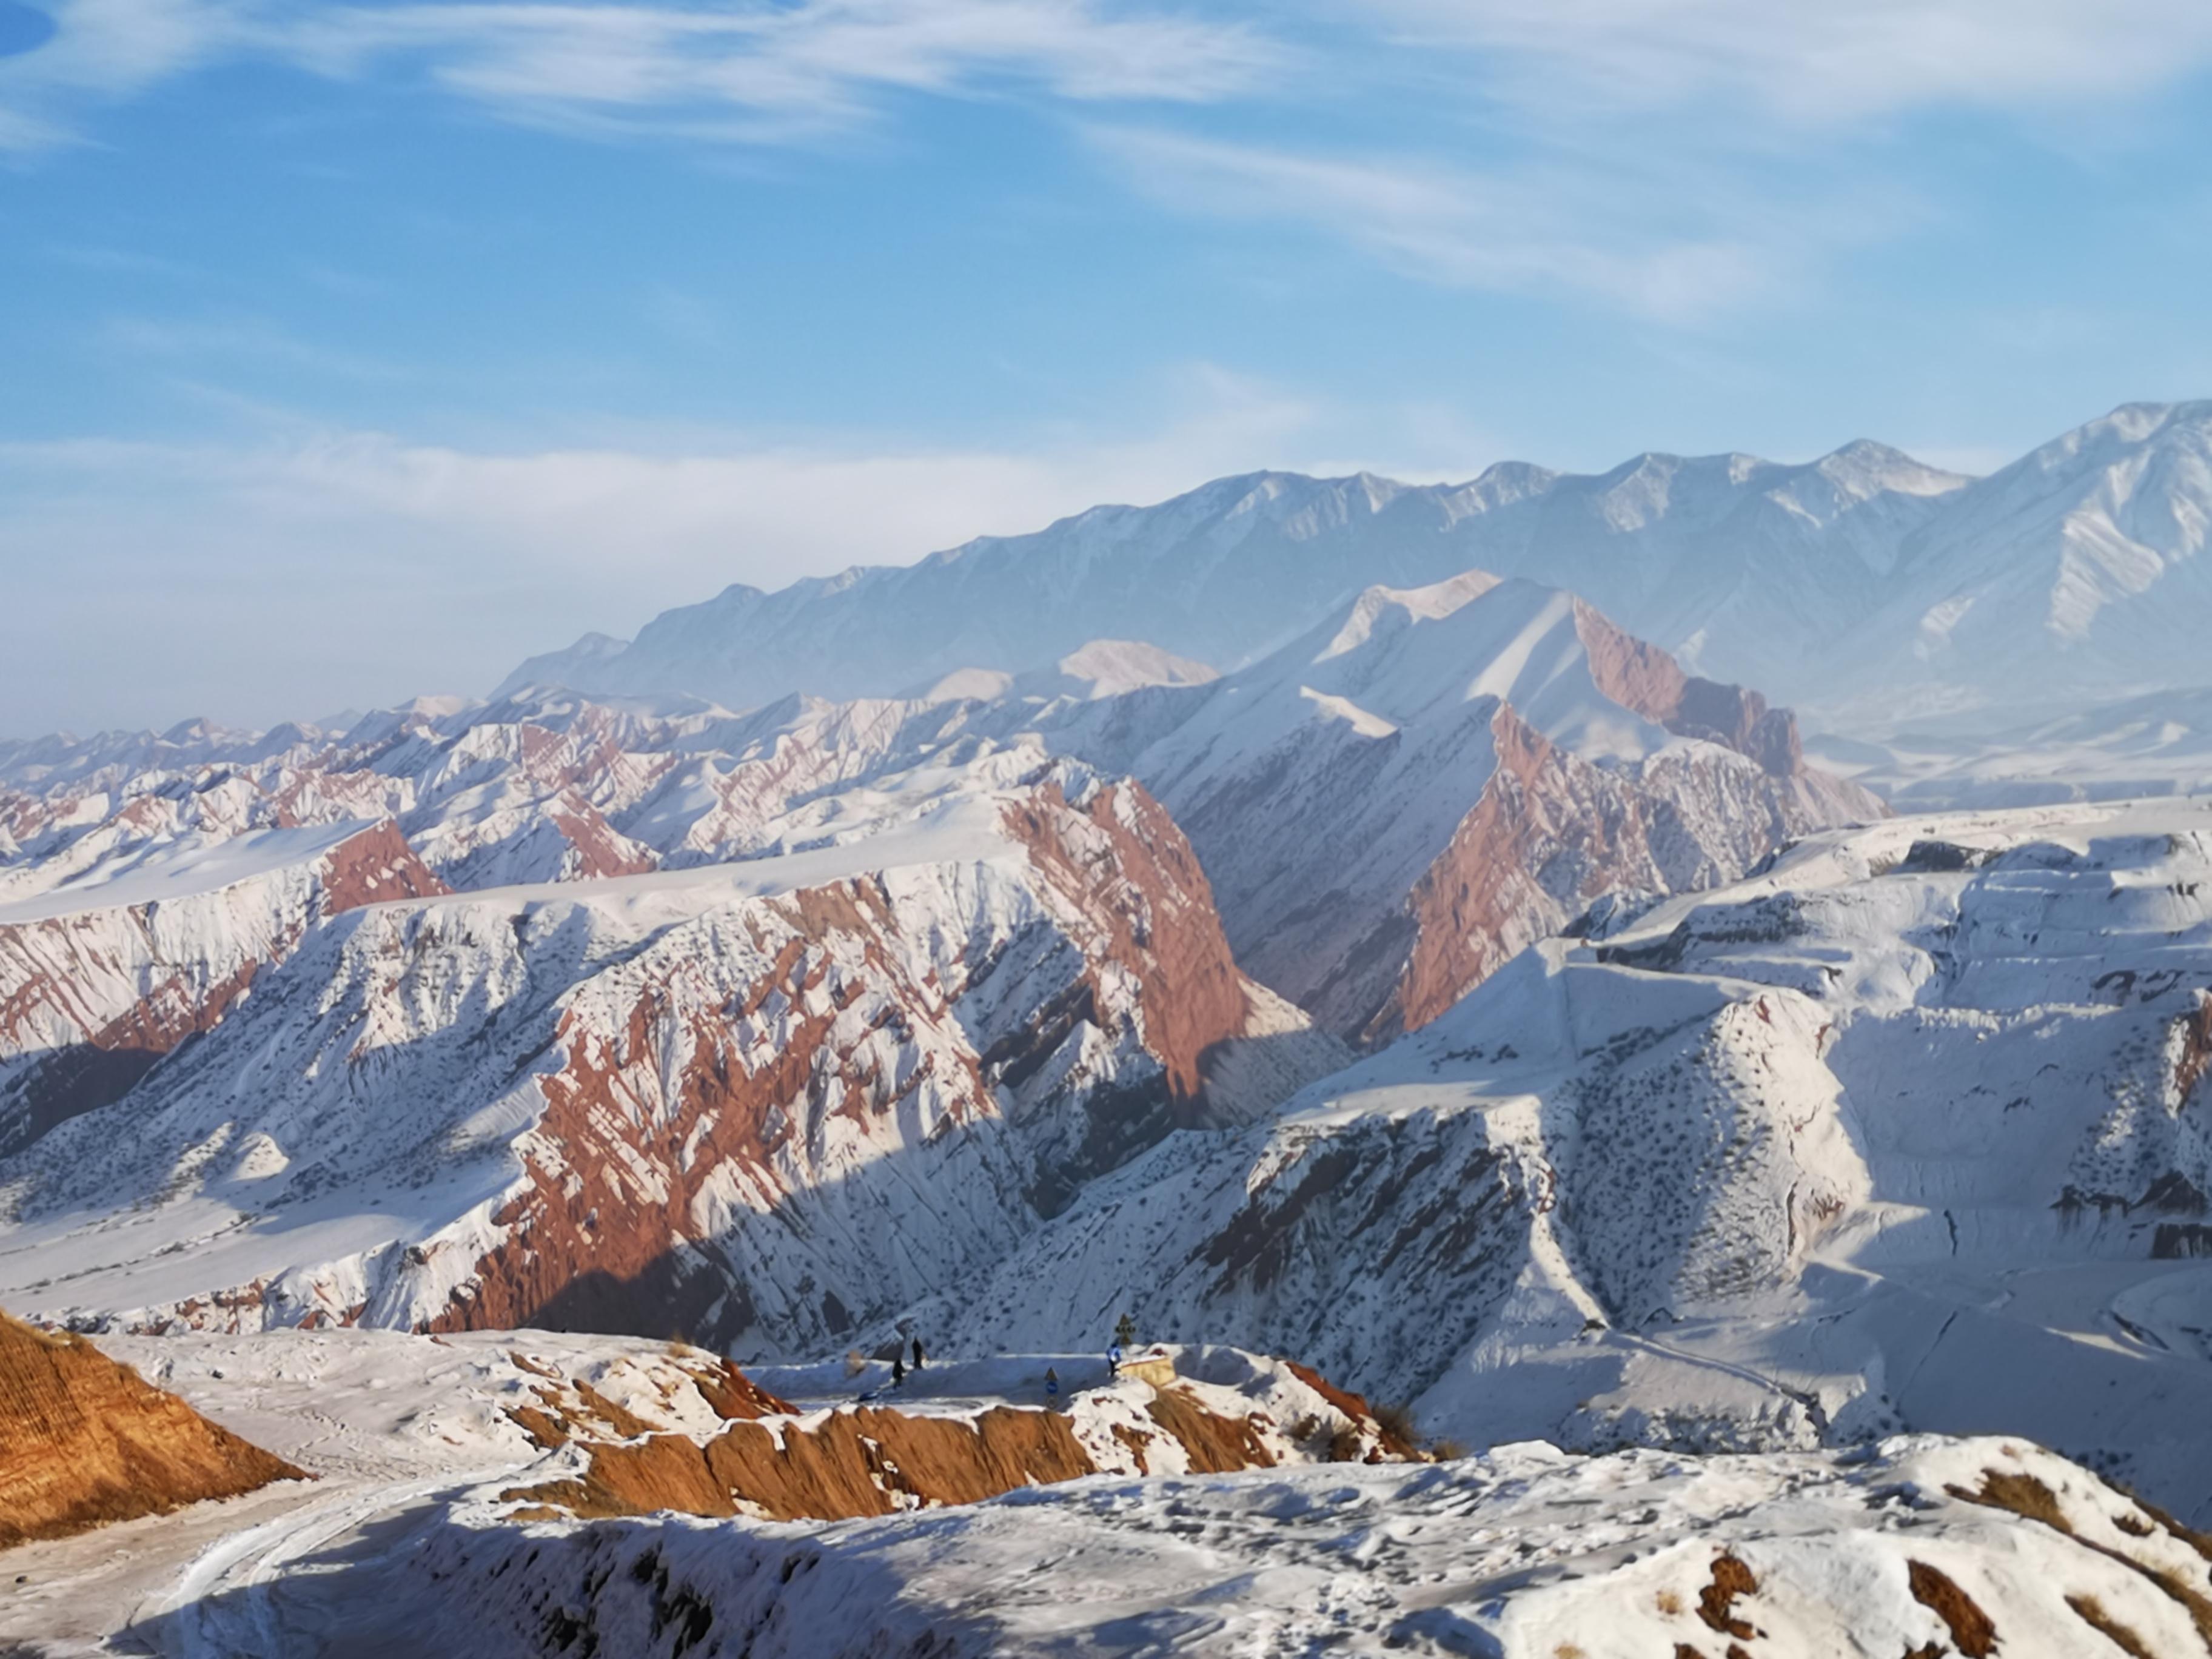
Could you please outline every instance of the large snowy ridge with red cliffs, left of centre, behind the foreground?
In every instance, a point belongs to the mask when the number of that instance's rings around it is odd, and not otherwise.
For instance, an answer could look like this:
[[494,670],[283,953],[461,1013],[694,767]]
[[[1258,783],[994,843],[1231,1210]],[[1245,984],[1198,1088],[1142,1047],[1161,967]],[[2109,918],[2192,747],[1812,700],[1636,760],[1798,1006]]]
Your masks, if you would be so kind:
[[852,845],[310,920],[0,1161],[0,1296],[818,1349],[1340,1064],[1141,787],[1029,763],[887,781]]

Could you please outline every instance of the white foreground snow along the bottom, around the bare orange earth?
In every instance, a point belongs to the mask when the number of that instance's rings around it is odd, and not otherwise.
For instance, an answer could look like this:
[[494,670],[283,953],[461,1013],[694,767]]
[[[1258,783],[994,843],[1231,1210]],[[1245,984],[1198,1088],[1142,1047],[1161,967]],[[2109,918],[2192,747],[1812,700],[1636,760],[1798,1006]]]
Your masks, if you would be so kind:
[[[319,1480],[11,1551],[0,1639],[35,1655],[1646,1659],[1741,1637],[1754,1655],[1889,1659],[1953,1650],[1964,1604],[2006,1659],[2077,1659],[2115,1628],[2154,1655],[2197,1652],[2188,1597],[2212,1590],[2201,1544],[2024,1440],[1506,1444],[1436,1464],[1106,1473],[856,1522],[518,1522],[502,1493],[577,1458],[531,1449],[507,1405],[551,1374],[699,1438],[717,1427],[690,1387],[708,1356],[540,1332],[115,1347]],[[945,1385],[1020,1389],[1051,1358],[945,1367]],[[1232,1360],[1241,1389],[1199,1387],[1228,1407],[1294,1405],[1270,1394],[1281,1367],[1212,1354]],[[1104,1422],[1115,1396],[1068,1409]],[[2055,1524],[1975,1502],[2000,1482],[2039,1493]],[[1723,1575],[1736,1595],[1712,1606]]]

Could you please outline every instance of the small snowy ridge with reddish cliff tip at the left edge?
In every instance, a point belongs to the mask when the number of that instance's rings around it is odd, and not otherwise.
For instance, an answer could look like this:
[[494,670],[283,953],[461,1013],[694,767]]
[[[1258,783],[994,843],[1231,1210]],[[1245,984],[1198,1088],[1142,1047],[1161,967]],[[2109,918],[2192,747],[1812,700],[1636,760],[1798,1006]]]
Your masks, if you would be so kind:
[[0,1155],[119,1099],[321,918],[442,891],[383,821],[248,832],[0,905]]

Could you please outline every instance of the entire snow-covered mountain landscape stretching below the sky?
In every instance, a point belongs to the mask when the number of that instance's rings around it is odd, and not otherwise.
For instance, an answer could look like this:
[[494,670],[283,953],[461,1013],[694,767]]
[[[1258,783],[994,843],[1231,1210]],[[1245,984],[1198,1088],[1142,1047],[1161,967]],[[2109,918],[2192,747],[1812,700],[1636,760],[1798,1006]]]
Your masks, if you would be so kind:
[[[0,745],[0,1303],[334,1478],[93,1624],[2201,1644],[2208,453],[1228,480],[489,701]],[[1495,1451],[1294,1467],[1422,1436]]]

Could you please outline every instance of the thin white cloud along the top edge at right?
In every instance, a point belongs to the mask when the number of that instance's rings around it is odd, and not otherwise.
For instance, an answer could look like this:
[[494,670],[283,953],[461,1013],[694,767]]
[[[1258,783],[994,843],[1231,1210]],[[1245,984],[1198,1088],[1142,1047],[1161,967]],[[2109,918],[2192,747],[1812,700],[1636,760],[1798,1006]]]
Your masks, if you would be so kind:
[[2212,64],[2203,0],[1367,0],[1524,104],[1721,95],[1781,124],[2119,100]]

